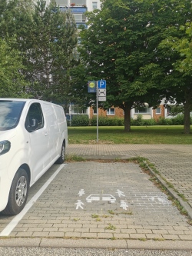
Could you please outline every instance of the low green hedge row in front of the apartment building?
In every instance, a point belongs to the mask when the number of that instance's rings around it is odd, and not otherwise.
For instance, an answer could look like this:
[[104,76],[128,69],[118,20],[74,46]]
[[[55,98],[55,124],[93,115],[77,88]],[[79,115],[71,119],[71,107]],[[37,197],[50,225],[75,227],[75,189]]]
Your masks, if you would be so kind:
[[[190,124],[192,125],[192,117],[190,118]],[[68,124],[69,125],[69,124]],[[71,126],[96,126],[97,117],[89,119],[88,115],[74,115],[71,120]],[[124,126],[124,118],[108,118],[98,117],[99,126]],[[131,118],[131,126],[143,126],[143,125],[184,125],[184,115],[180,114],[174,118],[159,118],[157,121],[154,119],[143,119],[142,115],[137,115],[137,119]]]

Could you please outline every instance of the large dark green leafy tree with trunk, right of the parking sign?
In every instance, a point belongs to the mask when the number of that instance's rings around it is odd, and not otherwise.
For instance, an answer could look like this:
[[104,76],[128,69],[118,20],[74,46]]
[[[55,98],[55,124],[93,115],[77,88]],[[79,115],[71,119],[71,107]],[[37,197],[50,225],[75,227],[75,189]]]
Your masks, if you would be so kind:
[[131,130],[131,108],[158,105],[164,96],[158,81],[164,63],[157,47],[167,38],[167,28],[183,22],[180,8],[178,0],[105,0],[101,11],[88,13],[81,57],[88,78],[107,80],[106,104],[124,109],[125,131]]

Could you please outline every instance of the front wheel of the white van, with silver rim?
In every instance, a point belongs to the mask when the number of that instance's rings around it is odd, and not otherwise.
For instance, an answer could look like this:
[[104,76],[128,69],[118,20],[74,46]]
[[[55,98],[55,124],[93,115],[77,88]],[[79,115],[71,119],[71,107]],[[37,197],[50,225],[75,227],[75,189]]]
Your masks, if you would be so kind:
[[8,204],[2,214],[16,215],[25,207],[28,198],[29,180],[27,172],[19,168],[12,181]]

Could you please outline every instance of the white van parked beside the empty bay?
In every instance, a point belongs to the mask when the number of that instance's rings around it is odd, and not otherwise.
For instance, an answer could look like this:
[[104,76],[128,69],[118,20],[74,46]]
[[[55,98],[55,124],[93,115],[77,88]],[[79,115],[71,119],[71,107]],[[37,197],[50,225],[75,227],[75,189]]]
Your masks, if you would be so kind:
[[0,98],[0,211],[18,214],[28,188],[56,161],[65,161],[67,120],[46,101]]

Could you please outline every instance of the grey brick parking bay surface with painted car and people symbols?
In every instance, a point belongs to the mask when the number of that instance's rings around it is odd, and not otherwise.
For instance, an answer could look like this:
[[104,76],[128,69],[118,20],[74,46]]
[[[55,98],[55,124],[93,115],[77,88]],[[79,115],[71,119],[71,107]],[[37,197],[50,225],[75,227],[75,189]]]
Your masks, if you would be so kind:
[[[31,188],[28,201],[57,168]],[[192,240],[187,218],[149,178],[132,163],[68,163],[8,237]],[[0,217],[0,235],[12,219]]]

